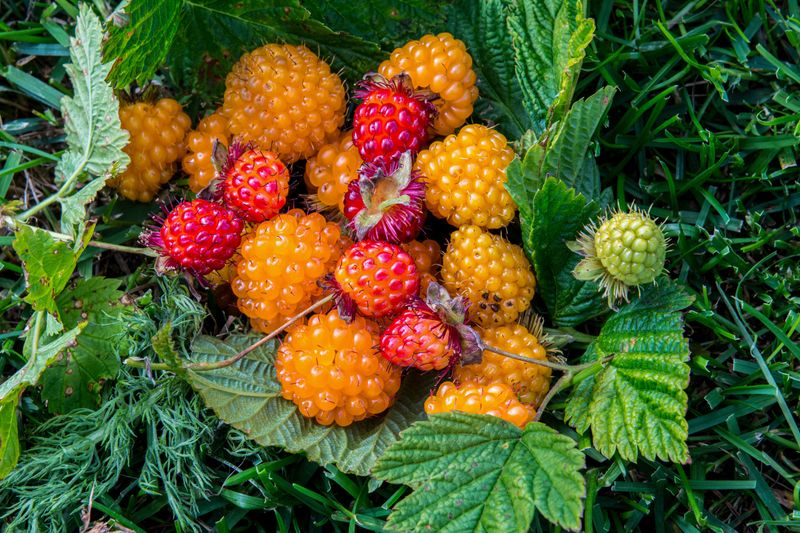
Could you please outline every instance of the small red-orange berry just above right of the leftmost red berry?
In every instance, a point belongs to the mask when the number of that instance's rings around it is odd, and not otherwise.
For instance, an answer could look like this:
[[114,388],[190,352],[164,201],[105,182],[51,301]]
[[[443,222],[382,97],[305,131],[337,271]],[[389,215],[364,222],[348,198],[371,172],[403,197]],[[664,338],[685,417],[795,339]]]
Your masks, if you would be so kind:
[[248,222],[278,214],[289,194],[289,170],[272,152],[234,144],[223,169],[225,204]]

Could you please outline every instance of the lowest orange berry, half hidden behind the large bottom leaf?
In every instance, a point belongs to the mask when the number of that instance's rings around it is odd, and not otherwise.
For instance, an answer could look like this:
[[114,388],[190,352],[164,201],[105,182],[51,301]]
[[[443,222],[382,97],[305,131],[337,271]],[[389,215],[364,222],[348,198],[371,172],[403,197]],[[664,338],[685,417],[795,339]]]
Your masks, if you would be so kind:
[[465,382],[456,385],[445,381],[436,394],[425,401],[425,412],[429,415],[461,411],[502,418],[520,428],[533,420],[536,412],[520,402],[514,391],[505,383],[479,385]]

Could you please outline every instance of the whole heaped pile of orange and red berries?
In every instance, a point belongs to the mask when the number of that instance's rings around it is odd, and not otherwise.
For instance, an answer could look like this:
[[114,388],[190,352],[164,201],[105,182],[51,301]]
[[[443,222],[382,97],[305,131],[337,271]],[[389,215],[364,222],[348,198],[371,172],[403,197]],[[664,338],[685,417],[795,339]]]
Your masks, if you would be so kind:
[[[534,295],[530,264],[491,232],[516,215],[505,189],[514,152],[499,132],[464,125],[478,96],[472,58],[452,35],[426,35],[355,96],[346,125],[347,93],[327,63],[305,46],[263,46],[234,65],[222,105],[193,131],[174,100],[123,106],[132,164],[114,186],[150,201],[182,160],[198,199],[157,219],[147,240],[167,267],[229,284],[253,328],[293,322],[275,366],[304,416],[347,426],[382,413],[413,366],[452,375],[426,412],[524,426],[549,368],[485,345],[479,363],[461,364],[470,323],[485,343],[547,358],[517,324]],[[290,196],[299,160],[305,210]],[[456,228],[444,253],[419,237],[428,213]]]

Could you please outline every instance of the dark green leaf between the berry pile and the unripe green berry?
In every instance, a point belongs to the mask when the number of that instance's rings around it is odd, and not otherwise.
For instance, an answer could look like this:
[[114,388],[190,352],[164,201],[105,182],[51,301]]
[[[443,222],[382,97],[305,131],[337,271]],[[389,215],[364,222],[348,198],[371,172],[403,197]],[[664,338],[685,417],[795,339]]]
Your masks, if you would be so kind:
[[522,243],[553,322],[575,326],[605,312],[608,308],[597,285],[572,275],[580,257],[567,248],[600,209],[564,182],[547,178],[531,211],[532,220],[523,220]]

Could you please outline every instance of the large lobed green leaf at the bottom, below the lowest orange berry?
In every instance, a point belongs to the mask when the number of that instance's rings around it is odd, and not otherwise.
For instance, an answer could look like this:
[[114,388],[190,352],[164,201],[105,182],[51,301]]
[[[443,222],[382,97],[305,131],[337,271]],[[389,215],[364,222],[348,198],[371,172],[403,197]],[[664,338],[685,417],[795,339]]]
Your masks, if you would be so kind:
[[580,528],[585,481],[575,441],[539,422],[521,430],[459,412],[403,432],[373,475],[414,488],[389,516],[393,531],[527,531],[534,510]]

